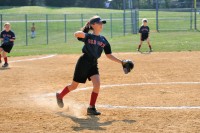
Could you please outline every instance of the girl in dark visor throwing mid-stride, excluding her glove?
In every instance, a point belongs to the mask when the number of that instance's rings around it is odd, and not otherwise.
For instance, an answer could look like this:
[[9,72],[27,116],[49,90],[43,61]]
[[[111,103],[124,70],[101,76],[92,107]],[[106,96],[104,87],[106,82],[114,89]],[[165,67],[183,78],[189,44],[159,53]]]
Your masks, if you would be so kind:
[[[93,90],[87,114],[101,114],[95,108],[95,103],[100,90],[100,76],[97,60],[104,51],[110,60],[122,64],[122,60],[112,55],[111,46],[106,38],[100,35],[103,30],[103,24],[106,24],[105,20],[102,20],[99,16],[94,16],[86,23],[82,28],[82,31],[74,33],[74,36],[79,41],[84,42],[82,48],[83,55],[77,61],[72,83],[66,86],[61,93],[56,93],[57,104],[60,108],[63,108],[64,106],[63,97],[67,93],[75,90],[79,83],[85,83],[88,79],[93,83]],[[89,31],[92,32],[89,33]]]

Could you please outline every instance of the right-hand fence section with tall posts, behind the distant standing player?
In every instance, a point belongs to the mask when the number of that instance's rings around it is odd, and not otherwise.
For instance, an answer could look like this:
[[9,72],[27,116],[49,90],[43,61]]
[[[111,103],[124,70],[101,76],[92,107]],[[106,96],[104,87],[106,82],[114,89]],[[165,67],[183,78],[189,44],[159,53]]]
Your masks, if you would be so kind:
[[[200,29],[200,10],[194,9],[159,9],[140,10],[139,22],[147,18],[153,31],[191,31]],[[196,18],[195,18],[196,14]]]

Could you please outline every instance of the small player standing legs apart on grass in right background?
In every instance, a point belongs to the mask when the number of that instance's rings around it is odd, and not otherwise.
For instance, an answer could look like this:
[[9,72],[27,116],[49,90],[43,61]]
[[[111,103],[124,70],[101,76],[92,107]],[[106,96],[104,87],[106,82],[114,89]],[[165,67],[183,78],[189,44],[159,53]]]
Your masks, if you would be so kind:
[[151,44],[150,44],[150,38],[149,38],[149,27],[147,26],[147,19],[142,19],[142,26],[140,27],[139,33],[140,33],[140,44],[138,45],[137,51],[140,51],[140,48],[142,46],[143,41],[147,41],[147,44],[149,45],[149,52],[152,52]]

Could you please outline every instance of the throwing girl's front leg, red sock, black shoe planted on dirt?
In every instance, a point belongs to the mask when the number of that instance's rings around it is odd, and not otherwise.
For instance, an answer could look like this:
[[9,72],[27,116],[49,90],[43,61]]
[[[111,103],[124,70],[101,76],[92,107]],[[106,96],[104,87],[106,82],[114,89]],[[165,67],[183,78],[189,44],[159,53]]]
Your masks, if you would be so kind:
[[101,113],[98,112],[95,108],[96,100],[97,100],[99,90],[100,90],[99,74],[91,76],[90,79],[92,80],[92,83],[93,83],[93,90],[91,93],[90,106],[87,109],[87,114],[88,115],[100,115]]

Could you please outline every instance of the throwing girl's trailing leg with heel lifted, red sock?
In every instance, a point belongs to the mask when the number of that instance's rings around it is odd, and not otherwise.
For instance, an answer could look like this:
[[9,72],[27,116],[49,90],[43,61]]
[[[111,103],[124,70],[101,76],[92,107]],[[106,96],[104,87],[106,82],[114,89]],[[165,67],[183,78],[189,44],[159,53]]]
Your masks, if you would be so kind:
[[72,81],[72,83],[66,86],[61,93],[56,93],[57,104],[60,108],[64,107],[63,97],[67,95],[70,91],[75,90],[78,87],[78,82]]

